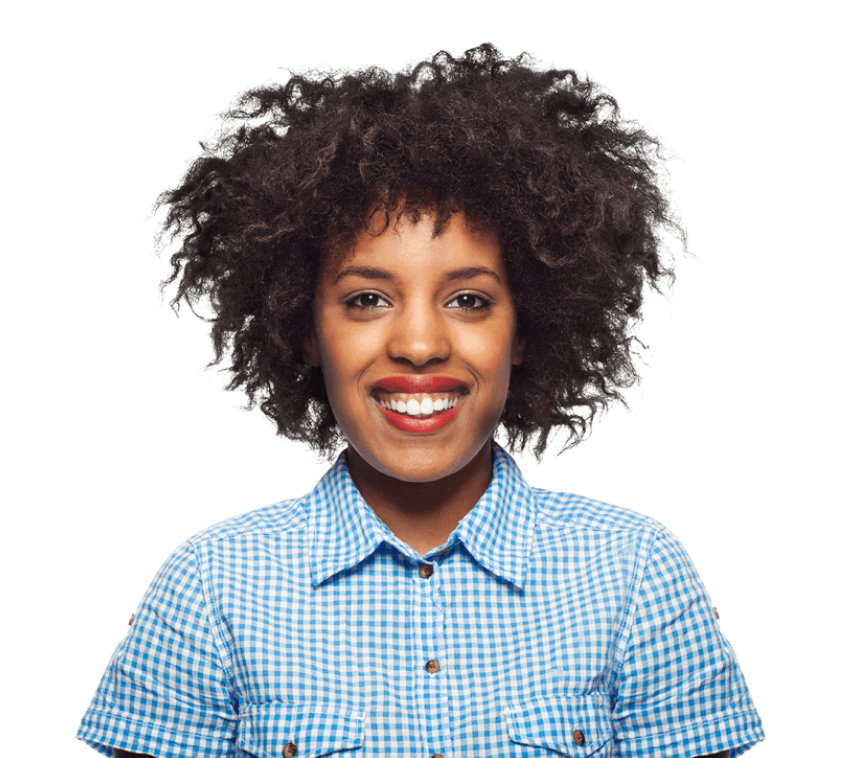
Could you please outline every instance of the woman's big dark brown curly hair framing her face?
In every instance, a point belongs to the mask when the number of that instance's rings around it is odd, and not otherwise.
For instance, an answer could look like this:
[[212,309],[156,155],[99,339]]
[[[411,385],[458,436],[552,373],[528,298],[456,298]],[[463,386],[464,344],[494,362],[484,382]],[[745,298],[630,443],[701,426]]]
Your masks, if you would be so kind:
[[[432,239],[462,211],[502,243],[525,361],[514,366],[495,440],[553,460],[576,449],[629,394],[642,397],[644,304],[675,296],[675,247],[688,246],[662,136],[625,117],[586,71],[540,65],[485,43],[460,56],[386,67],[280,67],[237,92],[163,189],[153,255],[159,284],[210,324],[222,394],[258,410],[274,441],[331,463],[344,448],[320,368],[303,352],[322,256],[344,254],[370,210],[418,223]],[[333,71],[337,71],[332,75]],[[227,364],[225,368],[225,363]],[[525,466],[524,461],[521,461]]]

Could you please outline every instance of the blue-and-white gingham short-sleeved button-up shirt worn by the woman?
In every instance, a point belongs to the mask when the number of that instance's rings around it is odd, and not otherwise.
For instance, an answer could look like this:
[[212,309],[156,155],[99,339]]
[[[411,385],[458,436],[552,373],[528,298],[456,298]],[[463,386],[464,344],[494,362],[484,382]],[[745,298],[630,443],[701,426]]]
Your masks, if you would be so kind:
[[424,557],[345,455],[165,560],[75,738],[158,758],[687,758],[764,741],[690,555],[659,521],[493,478]]

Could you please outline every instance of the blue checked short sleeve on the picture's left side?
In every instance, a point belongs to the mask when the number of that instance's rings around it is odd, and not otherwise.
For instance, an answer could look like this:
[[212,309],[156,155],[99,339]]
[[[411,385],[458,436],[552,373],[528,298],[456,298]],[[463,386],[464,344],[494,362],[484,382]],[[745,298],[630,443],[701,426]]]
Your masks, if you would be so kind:
[[183,543],[160,566],[109,658],[74,738],[158,758],[235,758],[239,727],[198,563]]

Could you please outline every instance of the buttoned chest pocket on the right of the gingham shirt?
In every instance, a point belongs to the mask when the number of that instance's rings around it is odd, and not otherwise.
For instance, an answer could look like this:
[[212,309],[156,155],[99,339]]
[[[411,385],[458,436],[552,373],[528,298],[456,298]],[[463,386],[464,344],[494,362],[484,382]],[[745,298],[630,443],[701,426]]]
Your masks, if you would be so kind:
[[[613,755],[614,731],[605,695],[553,695],[502,711],[511,742],[569,758]],[[607,749],[606,749],[607,745]]]

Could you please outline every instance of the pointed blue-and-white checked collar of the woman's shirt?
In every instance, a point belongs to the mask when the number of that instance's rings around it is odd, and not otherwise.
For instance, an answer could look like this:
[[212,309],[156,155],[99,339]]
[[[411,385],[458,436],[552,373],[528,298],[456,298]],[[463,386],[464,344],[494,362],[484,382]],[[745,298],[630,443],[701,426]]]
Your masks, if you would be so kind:
[[[490,485],[452,532],[447,546],[462,542],[487,570],[522,588],[537,523],[537,502],[513,457],[495,441],[492,445]],[[403,543],[360,495],[344,453],[305,500],[314,586],[354,568],[383,542],[402,549]]]

